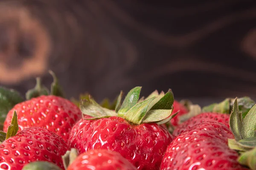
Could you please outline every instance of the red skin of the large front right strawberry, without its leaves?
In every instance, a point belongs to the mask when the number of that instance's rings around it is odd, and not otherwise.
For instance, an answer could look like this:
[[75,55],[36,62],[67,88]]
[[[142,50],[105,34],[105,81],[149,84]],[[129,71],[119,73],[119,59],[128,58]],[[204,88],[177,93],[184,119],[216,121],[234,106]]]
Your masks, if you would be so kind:
[[[219,122],[203,122],[177,136],[166,150],[161,170],[242,170],[238,153],[227,145],[230,129]],[[245,170],[245,169],[244,169]]]

